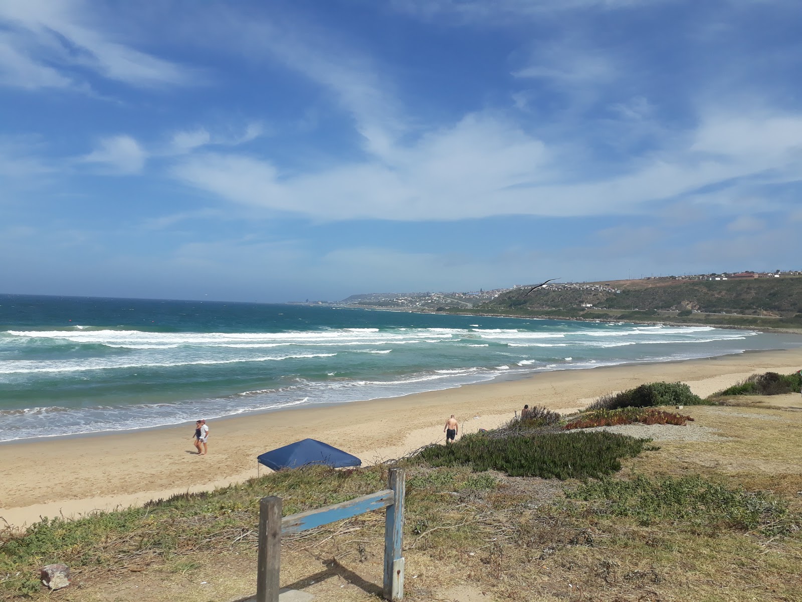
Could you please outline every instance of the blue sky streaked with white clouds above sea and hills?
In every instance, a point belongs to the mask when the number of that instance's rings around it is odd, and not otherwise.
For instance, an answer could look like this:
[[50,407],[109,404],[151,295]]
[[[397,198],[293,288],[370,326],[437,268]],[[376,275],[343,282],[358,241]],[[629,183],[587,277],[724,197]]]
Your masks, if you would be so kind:
[[798,0],[0,0],[0,292],[799,269]]

